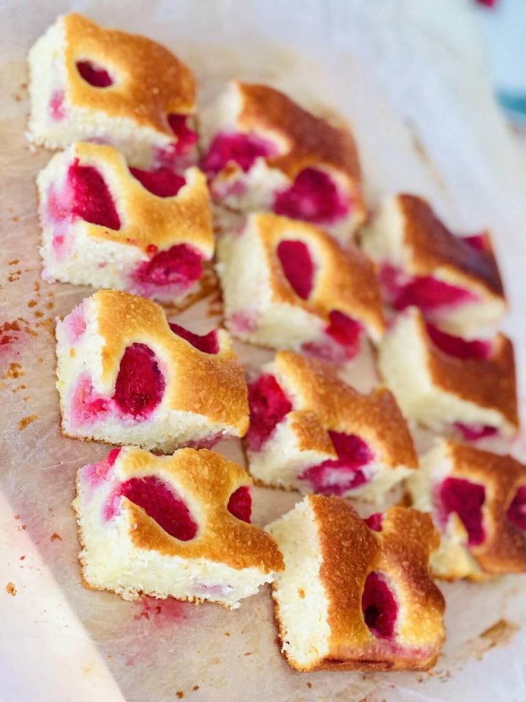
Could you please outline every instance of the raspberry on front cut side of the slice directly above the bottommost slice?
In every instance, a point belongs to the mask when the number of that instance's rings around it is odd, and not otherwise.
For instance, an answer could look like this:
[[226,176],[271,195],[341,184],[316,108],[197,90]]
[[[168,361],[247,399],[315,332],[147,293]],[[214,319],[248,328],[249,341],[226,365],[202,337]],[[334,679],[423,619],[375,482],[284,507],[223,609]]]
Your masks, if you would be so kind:
[[369,479],[363,470],[375,457],[369,446],[356,434],[329,432],[338,458],[306,468],[298,477],[308,480],[322,495],[343,495]]

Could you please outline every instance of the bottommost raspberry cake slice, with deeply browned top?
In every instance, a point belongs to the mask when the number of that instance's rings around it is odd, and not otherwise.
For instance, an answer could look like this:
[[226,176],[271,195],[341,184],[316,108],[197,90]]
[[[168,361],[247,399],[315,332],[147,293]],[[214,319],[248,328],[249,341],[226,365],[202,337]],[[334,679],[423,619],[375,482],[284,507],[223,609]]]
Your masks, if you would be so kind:
[[366,522],[309,495],[267,527],[285,570],[272,585],[281,647],[297,670],[428,670],[445,639],[429,575],[429,515],[395,507]]

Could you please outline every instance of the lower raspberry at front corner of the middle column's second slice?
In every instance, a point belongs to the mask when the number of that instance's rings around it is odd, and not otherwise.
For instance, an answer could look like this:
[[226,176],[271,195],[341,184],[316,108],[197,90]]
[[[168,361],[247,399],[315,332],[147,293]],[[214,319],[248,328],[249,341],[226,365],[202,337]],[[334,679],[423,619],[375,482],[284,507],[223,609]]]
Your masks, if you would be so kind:
[[346,363],[355,358],[361,348],[362,326],[344,312],[332,310],[325,329],[326,338],[302,346],[304,352],[332,363]]

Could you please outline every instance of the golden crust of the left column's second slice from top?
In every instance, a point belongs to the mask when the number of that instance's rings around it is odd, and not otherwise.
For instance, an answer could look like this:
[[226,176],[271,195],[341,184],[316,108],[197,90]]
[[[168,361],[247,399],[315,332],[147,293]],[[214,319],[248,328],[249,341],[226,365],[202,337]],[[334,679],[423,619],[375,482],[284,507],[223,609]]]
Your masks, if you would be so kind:
[[[187,171],[187,183],[175,197],[157,197],[134,178],[126,159],[114,147],[77,142],[72,152],[81,166],[95,166],[104,177],[121,219],[119,230],[86,222],[88,236],[137,246],[143,251],[151,244],[160,250],[191,244],[206,258],[212,257],[210,196],[206,178],[198,168]],[[114,183],[118,187],[112,187]]]

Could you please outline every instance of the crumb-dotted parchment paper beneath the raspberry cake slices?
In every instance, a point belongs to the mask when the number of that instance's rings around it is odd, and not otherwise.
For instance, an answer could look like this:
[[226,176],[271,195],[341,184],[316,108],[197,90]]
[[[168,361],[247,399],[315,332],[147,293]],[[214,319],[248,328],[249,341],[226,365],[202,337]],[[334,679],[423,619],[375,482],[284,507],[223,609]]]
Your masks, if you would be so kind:
[[[447,644],[435,670],[422,674],[295,673],[278,652],[267,589],[229,612],[123,602],[81,586],[73,479],[107,447],[59,434],[53,319],[90,289],[39,281],[34,177],[49,154],[30,153],[23,135],[25,53],[55,15],[72,9],[163,41],[196,70],[203,93],[241,77],[340,112],[356,132],[369,206],[382,194],[410,190],[430,197],[453,227],[489,226],[511,296],[506,331],[518,343],[522,378],[524,176],[490,94],[467,1],[4,1],[0,701],[523,702],[524,577],[440,585]],[[181,321],[206,331],[217,312],[208,300]],[[269,357],[245,345],[239,350],[249,366]],[[359,369],[350,377],[365,382]],[[237,442],[219,448],[243,460]],[[525,456],[520,442],[515,453]],[[255,523],[296,500],[255,489]]]

